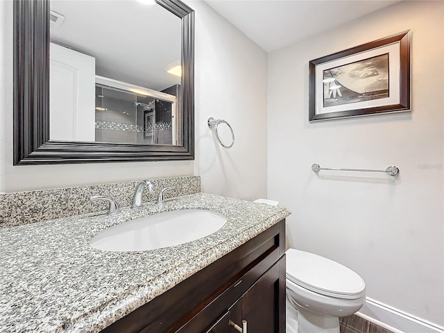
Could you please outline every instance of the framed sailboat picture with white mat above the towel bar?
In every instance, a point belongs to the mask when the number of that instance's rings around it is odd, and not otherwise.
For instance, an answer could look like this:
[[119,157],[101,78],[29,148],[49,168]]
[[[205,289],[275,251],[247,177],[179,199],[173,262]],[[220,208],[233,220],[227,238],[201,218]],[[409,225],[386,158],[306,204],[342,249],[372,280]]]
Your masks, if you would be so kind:
[[410,111],[410,31],[309,62],[309,121]]

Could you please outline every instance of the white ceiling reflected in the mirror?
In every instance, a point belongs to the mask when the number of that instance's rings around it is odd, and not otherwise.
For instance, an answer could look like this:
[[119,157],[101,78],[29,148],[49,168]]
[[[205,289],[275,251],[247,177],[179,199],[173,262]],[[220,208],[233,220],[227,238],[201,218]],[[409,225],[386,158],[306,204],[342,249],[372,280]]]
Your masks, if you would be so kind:
[[[1,0],[0,0],[1,1]],[[181,58],[181,20],[139,1],[51,0],[65,16],[51,42],[96,58],[96,74],[162,90],[180,84],[164,67]]]

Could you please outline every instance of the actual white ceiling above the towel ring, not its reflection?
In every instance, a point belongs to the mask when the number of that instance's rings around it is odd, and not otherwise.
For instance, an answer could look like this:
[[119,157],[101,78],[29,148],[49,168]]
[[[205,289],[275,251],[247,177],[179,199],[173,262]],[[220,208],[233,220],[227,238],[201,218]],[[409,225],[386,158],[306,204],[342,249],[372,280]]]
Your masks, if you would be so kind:
[[267,52],[401,0],[205,0]]

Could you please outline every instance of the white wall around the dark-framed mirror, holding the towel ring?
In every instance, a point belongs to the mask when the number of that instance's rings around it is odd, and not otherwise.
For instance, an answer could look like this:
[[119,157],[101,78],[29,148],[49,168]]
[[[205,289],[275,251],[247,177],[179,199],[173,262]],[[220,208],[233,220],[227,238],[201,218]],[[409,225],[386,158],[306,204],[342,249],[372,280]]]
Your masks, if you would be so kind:
[[[13,167],[12,1],[0,1],[0,191],[199,174],[204,191],[264,196],[266,53],[205,3],[189,5],[196,10],[196,160]],[[237,137],[230,151],[216,146],[206,126],[210,116],[232,124]]]

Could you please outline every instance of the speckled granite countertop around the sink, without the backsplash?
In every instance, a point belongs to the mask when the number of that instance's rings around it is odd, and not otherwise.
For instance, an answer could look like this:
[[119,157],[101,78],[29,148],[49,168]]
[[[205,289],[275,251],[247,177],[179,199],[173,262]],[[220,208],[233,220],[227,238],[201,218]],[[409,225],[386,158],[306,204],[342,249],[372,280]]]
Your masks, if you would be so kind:
[[[219,212],[219,231],[186,244],[106,252],[89,241],[112,225],[171,210]],[[99,332],[271,225],[282,207],[191,194],[141,209],[103,212],[0,230],[0,332]]]

